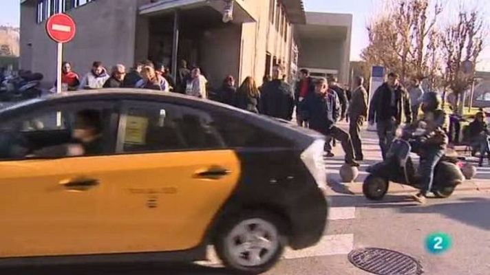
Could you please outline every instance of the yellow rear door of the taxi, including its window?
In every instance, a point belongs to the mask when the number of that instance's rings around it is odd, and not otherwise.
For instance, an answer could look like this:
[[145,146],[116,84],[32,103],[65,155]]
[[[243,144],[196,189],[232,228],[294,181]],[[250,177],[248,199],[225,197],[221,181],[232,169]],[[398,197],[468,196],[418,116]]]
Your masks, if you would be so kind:
[[111,252],[194,248],[235,188],[239,160],[223,149],[204,111],[163,102],[124,106],[100,239]]

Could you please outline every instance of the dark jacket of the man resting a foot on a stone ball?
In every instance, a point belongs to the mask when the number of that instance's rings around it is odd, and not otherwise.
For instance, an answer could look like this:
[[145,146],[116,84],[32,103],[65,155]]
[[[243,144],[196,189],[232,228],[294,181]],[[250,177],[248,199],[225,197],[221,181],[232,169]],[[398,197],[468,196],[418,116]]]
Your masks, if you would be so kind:
[[339,97],[332,89],[324,96],[309,94],[301,101],[299,109],[301,118],[308,121],[311,129],[320,133],[328,131],[339,120],[341,111]]

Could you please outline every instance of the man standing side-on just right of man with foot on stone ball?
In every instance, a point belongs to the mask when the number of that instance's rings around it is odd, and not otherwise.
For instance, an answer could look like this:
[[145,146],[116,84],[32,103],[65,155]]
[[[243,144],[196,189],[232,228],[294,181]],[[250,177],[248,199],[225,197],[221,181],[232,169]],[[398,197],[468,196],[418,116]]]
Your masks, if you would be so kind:
[[356,77],[355,84],[356,89],[352,93],[352,99],[349,104],[349,133],[352,138],[356,160],[362,161],[364,155],[359,133],[368,116],[368,92],[364,89],[364,78],[362,76]]

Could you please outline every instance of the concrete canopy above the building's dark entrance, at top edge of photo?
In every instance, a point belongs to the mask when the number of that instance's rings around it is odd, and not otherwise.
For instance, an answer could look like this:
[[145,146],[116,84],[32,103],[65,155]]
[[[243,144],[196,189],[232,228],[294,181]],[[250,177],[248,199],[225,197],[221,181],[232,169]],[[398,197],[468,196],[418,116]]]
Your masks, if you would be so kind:
[[[140,15],[158,15],[173,10],[190,10],[209,6],[223,13],[226,2],[223,0],[161,0],[156,3],[142,5],[140,7]],[[247,12],[239,1],[235,1],[233,8],[233,23],[249,23],[255,22],[255,18]]]

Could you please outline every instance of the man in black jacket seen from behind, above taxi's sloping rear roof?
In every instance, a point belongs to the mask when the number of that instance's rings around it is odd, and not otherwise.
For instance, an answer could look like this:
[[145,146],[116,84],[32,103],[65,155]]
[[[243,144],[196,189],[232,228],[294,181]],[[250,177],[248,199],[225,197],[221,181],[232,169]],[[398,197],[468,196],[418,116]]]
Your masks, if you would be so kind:
[[274,118],[292,120],[292,111],[295,109],[295,96],[288,83],[282,79],[279,67],[273,69],[273,80],[266,83],[262,94],[262,113]]

